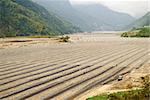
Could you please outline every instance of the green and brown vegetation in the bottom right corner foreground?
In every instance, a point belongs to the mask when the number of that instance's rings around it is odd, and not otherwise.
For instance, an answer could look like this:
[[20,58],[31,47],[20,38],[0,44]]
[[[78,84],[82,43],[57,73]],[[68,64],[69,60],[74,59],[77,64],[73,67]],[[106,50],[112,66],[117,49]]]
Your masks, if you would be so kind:
[[150,81],[149,77],[142,77],[143,89],[136,89],[125,92],[117,92],[112,94],[102,94],[99,96],[88,98],[87,100],[149,100],[150,98]]

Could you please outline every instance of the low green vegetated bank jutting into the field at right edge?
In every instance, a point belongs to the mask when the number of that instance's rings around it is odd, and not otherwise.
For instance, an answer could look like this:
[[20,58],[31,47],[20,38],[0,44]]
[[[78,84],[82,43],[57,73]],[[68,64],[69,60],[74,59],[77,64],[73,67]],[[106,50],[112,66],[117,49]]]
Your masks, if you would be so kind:
[[150,27],[133,29],[121,34],[122,37],[150,37]]

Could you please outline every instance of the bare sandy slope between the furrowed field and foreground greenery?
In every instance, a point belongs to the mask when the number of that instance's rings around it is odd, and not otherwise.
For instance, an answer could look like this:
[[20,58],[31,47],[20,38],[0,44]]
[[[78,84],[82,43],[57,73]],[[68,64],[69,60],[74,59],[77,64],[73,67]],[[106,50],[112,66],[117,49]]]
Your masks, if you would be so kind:
[[97,96],[103,93],[114,93],[121,91],[129,91],[131,89],[141,88],[143,80],[141,77],[149,76],[150,78],[150,63],[143,65],[139,69],[133,70],[131,73],[123,77],[122,81],[114,81],[106,85],[98,85],[79,95],[74,100],[86,100],[87,98]]

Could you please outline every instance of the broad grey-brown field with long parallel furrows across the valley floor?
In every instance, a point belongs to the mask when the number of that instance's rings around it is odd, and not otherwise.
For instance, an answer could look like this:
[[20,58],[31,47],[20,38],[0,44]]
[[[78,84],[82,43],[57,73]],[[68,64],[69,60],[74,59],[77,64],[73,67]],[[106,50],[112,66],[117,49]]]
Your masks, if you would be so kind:
[[148,38],[96,33],[70,37],[69,43],[1,48],[0,99],[72,100],[150,62]]

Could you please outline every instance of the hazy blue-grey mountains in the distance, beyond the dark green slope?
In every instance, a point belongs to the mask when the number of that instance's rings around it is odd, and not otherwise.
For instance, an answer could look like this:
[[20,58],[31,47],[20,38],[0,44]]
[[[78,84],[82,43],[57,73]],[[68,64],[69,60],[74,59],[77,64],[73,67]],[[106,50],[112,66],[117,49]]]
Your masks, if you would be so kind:
[[72,5],[69,0],[34,1],[84,31],[121,30],[134,21],[132,16],[113,11],[101,4]]

